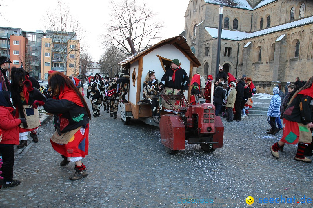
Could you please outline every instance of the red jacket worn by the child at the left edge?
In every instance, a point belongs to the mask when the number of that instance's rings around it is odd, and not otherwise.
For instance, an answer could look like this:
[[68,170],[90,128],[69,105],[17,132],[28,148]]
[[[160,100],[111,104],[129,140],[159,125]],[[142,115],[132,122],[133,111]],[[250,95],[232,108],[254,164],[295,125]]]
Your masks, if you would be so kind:
[[0,144],[19,144],[18,125],[20,119],[14,119],[13,108],[0,106],[0,129],[2,131],[2,140]]

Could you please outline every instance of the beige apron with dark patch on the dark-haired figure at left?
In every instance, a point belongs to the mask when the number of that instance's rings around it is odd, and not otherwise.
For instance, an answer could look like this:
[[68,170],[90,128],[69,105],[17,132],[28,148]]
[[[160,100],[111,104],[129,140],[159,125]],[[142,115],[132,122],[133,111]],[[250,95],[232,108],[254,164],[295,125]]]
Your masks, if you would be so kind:
[[[29,105],[23,105],[23,111],[27,122],[27,128],[37,128],[40,126],[38,109],[34,109],[32,105],[30,105],[30,107]],[[20,114],[18,116],[21,118]],[[20,127],[26,128],[24,127],[23,123]]]

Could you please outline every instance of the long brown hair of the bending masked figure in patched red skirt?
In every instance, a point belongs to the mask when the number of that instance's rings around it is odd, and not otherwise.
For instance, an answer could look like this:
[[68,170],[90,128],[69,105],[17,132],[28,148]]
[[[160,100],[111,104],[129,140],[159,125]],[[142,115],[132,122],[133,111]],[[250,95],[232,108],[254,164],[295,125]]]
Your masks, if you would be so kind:
[[91,120],[91,114],[89,111],[89,108],[87,106],[87,103],[83,97],[83,95],[80,93],[80,91],[77,89],[77,87],[74,85],[73,81],[70,80],[67,76],[65,76],[63,73],[59,71],[53,72],[49,78],[48,78],[48,84],[51,87],[52,94],[54,93],[54,90],[56,90],[58,87],[59,89],[64,89],[64,86],[67,85],[70,89],[74,90],[74,92],[79,96],[82,104],[85,107],[85,110],[87,111],[88,117]]

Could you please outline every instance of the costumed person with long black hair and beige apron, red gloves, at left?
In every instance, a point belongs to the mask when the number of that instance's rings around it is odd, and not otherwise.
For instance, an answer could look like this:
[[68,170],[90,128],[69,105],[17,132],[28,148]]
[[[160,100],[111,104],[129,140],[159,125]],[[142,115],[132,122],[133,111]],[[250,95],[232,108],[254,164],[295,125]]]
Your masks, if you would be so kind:
[[36,99],[42,99],[41,94],[36,94],[34,97],[30,96],[27,90],[27,87],[23,85],[23,81],[29,80],[32,84],[32,87],[36,89],[40,88],[38,81],[27,74],[27,72],[23,68],[12,67],[11,69],[11,85],[10,91],[12,93],[13,106],[16,108],[18,112],[15,115],[15,118],[25,118],[26,123],[22,124],[19,127],[19,140],[20,144],[17,146],[18,149],[27,146],[27,135],[30,133],[30,137],[33,138],[33,142],[38,142],[37,130],[40,126],[40,118],[38,114],[38,109],[33,109],[29,107],[32,105],[32,101]]

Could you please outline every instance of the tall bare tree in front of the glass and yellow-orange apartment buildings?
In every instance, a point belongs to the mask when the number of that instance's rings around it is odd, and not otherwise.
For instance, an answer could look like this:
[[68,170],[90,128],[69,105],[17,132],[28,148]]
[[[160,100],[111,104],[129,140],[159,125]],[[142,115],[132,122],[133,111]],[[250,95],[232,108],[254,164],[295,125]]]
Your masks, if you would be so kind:
[[[73,67],[71,73],[79,69],[80,45],[86,33],[78,22],[78,19],[70,13],[70,7],[58,1],[56,9],[49,9],[44,16],[47,37],[52,39],[52,61],[62,61],[64,74],[67,74],[67,67]],[[69,57],[71,55],[71,57]],[[74,55],[74,56],[73,56]]]

